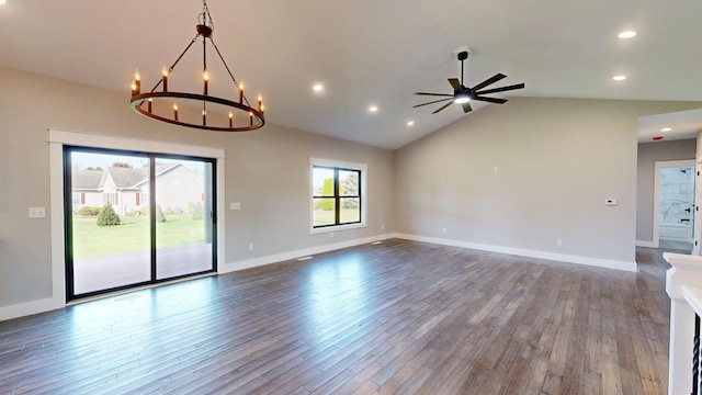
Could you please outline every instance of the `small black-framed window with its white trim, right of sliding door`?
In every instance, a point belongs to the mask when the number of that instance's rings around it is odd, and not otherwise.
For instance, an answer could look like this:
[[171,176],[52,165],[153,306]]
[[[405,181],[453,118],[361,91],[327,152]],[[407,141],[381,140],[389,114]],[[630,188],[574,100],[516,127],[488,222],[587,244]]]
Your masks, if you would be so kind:
[[365,165],[312,159],[313,233],[365,226]]

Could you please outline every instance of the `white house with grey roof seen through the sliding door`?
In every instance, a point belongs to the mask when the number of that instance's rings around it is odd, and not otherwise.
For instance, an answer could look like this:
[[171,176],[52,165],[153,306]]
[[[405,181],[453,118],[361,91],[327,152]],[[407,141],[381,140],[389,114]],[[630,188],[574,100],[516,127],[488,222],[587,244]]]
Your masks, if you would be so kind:
[[[149,205],[148,168],[75,169],[71,176],[73,212],[109,204],[124,215]],[[202,174],[181,162],[156,165],[156,191],[157,204],[165,211],[186,212],[204,202]]]

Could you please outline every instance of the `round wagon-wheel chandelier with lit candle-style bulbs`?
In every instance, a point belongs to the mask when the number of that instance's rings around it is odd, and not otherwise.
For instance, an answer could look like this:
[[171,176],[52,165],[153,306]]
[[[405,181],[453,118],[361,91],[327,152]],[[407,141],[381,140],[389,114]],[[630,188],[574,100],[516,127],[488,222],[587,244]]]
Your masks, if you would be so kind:
[[[222,57],[222,53],[219,53],[217,45],[212,38],[214,23],[210,15],[207,2],[203,0],[202,4],[202,13],[197,15],[197,25],[195,27],[197,34],[171,67],[163,65],[161,79],[149,92],[141,93],[141,76],[138,70],[134,74],[131,100],[132,110],[157,121],[200,129],[246,132],[260,128],[265,123],[261,94],[258,95],[258,105],[256,108],[249,104],[248,99],[244,94],[244,83],[234,78],[229,66],[227,66],[227,63]],[[202,93],[169,91],[169,79],[176,66],[199,37],[202,37]],[[207,70],[207,41],[212,43],[212,47],[215,49],[224,68],[231,78],[231,91],[235,94],[234,100],[208,94],[211,76]],[[238,100],[236,100],[236,94],[238,94]],[[182,109],[179,109],[179,103],[182,105]],[[194,112],[192,108],[195,108]],[[200,111],[200,108],[202,108],[202,111]],[[180,114],[179,110],[181,112]],[[188,110],[186,113],[185,110]],[[213,111],[208,114],[207,110]]]

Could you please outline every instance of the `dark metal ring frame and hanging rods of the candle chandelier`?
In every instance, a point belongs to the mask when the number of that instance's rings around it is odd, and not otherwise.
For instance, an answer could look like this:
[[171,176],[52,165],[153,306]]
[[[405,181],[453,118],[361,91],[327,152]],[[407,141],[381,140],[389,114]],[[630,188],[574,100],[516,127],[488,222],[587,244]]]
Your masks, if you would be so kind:
[[[263,113],[263,104],[261,97],[258,98],[258,109],[254,109],[249,104],[248,99],[244,94],[244,86],[241,82],[237,82],[229,69],[229,66],[224,60],[219,48],[215,44],[212,38],[212,32],[214,31],[214,24],[212,22],[212,16],[210,15],[210,9],[207,8],[206,0],[203,0],[203,11],[199,14],[199,24],[196,25],[197,35],[188,44],[185,49],[180,54],[178,59],[173,63],[170,68],[163,67],[161,79],[154,86],[154,88],[148,93],[140,92],[140,76],[138,71],[135,74],[134,81],[132,83],[132,99],[131,99],[131,108],[138,114],[148,116],[150,119],[185,126],[185,127],[194,127],[200,129],[207,131],[218,131],[218,132],[248,132],[254,131],[262,127],[265,124],[265,117]],[[192,47],[192,45],[197,41],[197,37],[202,36],[202,45],[203,45],[203,92],[202,93],[190,93],[190,92],[171,92],[168,90],[168,77],[171,75],[180,59],[188,53],[188,50]],[[217,55],[219,56],[219,60],[224,64],[229,77],[231,78],[231,82],[235,87],[238,88],[239,91],[239,101],[223,99],[208,94],[208,74],[207,74],[207,38],[212,43],[215,48]],[[159,87],[162,87],[162,90],[157,91]],[[173,105],[173,112],[170,114],[171,116],[158,114],[154,111],[152,101],[154,99],[165,100],[165,99],[181,99],[188,101],[196,101],[202,102],[202,124],[194,122],[186,122],[179,117],[178,113],[178,104]],[[228,126],[218,126],[215,124],[207,124],[207,103],[224,105],[229,109],[229,120]],[[146,108],[145,108],[146,106]],[[234,123],[234,114],[231,110],[246,112],[249,117],[249,124],[245,126],[235,126]]]

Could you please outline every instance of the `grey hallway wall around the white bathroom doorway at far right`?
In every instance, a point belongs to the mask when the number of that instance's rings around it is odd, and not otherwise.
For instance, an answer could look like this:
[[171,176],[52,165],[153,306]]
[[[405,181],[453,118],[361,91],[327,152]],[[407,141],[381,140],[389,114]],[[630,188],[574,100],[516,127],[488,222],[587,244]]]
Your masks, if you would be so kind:
[[644,143],[638,145],[636,182],[636,240],[654,242],[654,190],[656,161],[692,159],[697,156],[697,139]]

